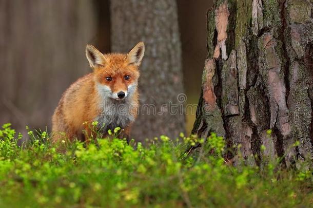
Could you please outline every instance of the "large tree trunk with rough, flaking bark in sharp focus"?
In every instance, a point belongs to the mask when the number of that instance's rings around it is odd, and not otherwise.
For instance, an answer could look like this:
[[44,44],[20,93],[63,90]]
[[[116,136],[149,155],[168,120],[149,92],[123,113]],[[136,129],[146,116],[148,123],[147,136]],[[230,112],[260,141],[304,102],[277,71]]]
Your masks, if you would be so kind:
[[276,155],[287,166],[312,159],[312,8],[308,0],[214,3],[193,134],[240,144],[252,165]]

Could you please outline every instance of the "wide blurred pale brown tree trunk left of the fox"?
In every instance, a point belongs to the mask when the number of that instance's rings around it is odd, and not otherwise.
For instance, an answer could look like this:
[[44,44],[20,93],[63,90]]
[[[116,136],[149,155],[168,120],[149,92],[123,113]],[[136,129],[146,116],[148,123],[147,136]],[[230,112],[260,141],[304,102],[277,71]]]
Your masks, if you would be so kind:
[[90,70],[95,22],[89,1],[0,1],[1,123],[50,126],[61,94]]

